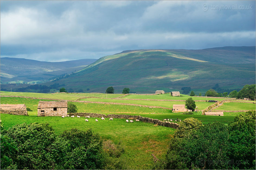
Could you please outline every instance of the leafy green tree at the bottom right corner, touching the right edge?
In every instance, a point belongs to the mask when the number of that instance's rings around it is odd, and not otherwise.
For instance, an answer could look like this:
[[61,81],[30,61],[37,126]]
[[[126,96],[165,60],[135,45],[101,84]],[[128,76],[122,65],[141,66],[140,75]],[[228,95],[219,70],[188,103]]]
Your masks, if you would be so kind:
[[241,164],[234,164],[232,169],[255,168],[255,110],[240,114],[228,124],[230,159]]

